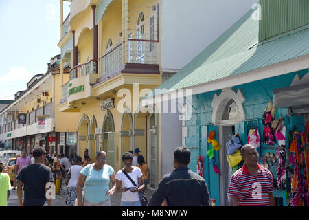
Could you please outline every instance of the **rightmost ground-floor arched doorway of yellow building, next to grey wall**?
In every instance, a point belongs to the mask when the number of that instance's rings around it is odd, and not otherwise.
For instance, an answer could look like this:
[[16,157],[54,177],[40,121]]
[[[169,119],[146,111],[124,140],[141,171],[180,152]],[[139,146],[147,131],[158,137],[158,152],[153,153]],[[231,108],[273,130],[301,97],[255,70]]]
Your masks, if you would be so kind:
[[158,113],[156,106],[139,106],[134,115],[134,148],[141,150],[150,170],[149,188],[159,182]]

